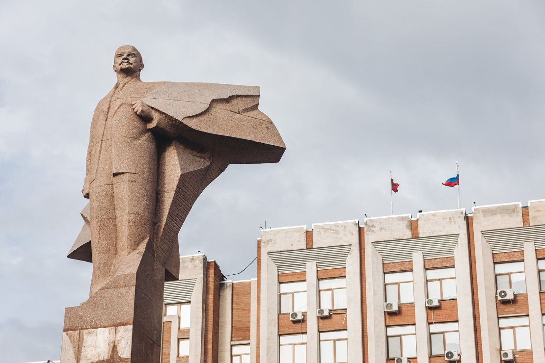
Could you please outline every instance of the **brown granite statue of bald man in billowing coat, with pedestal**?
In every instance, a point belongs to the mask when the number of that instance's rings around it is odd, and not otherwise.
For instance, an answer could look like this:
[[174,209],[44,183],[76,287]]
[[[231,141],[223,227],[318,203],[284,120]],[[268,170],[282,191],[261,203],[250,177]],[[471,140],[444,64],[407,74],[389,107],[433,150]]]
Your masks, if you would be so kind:
[[229,164],[285,150],[258,87],[142,82],[143,67],[135,47],[119,47],[117,83],[93,114],[89,204],[68,255],[92,262],[93,276],[89,299],[66,308],[63,363],[159,362],[163,286],[179,274],[193,203]]

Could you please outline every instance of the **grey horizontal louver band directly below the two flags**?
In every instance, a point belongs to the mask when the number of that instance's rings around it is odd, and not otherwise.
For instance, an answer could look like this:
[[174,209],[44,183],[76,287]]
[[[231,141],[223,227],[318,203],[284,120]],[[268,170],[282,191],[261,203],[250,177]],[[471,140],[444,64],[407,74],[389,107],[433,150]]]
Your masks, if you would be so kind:
[[412,261],[413,252],[422,252],[425,260],[453,257],[458,243],[458,234],[432,236],[393,241],[372,242],[383,262]]

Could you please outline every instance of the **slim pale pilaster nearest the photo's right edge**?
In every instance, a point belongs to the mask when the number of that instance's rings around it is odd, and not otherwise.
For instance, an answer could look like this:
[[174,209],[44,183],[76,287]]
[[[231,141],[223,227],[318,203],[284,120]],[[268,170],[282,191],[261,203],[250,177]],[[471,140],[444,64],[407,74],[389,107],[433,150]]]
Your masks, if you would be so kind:
[[528,309],[530,312],[532,356],[534,357],[534,362],[545,362],[540,280],[537,272],[536,248],[534,242],[524,243],[524,271],[526,273],[526,290],[528,292]]

